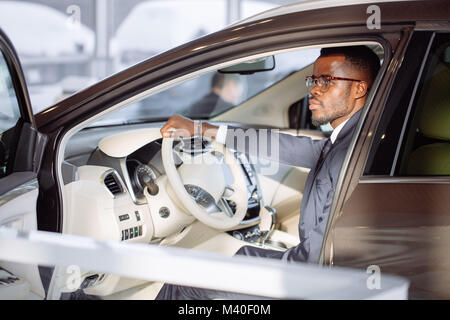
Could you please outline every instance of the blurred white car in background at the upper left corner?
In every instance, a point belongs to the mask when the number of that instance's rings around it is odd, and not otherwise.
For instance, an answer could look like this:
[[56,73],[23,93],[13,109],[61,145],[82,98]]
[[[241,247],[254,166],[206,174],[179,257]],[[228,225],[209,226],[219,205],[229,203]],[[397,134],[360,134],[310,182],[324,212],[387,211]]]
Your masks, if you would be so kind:
[[38,3],[0,1],[0,28],[19,54],[34,113],[93,83],[85,74],[95,34],[69,14]]

